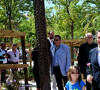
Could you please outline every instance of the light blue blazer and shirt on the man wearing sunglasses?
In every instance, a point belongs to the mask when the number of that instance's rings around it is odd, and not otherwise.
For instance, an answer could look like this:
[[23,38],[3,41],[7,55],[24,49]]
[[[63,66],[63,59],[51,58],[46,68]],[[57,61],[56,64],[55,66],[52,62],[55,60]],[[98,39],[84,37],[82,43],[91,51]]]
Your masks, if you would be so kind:
[[[55,53],[56,52],[56,53]],[[70,48],[67,45],[60,44],[60,47],[56,50],[56,46],[51,46],[51,74],[53,74],[53,67],[59,66],[63,76],[66,76],[66,72],[71,65]]]

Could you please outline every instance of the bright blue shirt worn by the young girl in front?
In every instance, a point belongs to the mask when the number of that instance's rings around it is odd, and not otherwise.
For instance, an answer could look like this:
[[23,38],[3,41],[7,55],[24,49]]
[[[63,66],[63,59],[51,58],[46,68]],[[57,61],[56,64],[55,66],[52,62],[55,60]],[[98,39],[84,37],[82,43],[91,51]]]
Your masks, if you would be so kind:
[[82,90],[84,85],[85,85],[85,83],[82,80],[80,81],[80,83],[79,83],[79,81],[77,81],[73,85],[71,85],[70,81],[68,81],[67,84],[65,85],[65,88],[67,90]]

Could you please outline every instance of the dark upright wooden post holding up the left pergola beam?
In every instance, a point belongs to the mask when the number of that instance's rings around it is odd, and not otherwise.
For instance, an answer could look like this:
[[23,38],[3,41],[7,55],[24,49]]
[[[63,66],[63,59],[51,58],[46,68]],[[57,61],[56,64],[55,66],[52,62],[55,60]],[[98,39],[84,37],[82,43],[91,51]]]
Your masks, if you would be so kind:
[[[22,45],[22,60],[23,64],[26,64],[26,53],[25,53],[25,37],[21,37],[21,45]],[[27,68],[24,68],[24,76],[25,76],[25,85],[28,85],[28,75]],[[25,87],[25,90],[29,90],[28,87]]]

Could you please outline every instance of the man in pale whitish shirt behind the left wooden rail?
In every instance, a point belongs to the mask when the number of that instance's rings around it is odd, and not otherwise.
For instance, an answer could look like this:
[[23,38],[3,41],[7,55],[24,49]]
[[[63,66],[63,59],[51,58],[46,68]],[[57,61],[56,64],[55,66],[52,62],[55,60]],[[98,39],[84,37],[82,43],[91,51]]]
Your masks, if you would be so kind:
[[[17,50],[17,45],[12,44],[12,49],[7,51],[8,64],[19,64],[19,51]],[[12,69],[14,73],[17,69]]]

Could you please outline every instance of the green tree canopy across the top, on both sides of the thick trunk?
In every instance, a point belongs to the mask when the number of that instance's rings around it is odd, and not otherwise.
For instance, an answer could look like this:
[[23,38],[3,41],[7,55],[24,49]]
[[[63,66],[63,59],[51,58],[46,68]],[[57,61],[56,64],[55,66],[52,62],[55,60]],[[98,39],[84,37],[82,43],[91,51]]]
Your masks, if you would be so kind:
[[[80,39],[100,28],[99,0],[46,0],[47,32],[53,30],[63,40]],[[0,29],[26,32],[26,42],[35,44],[33,0],[0,1]],[[18,41],[15,39],[15,41]]]

